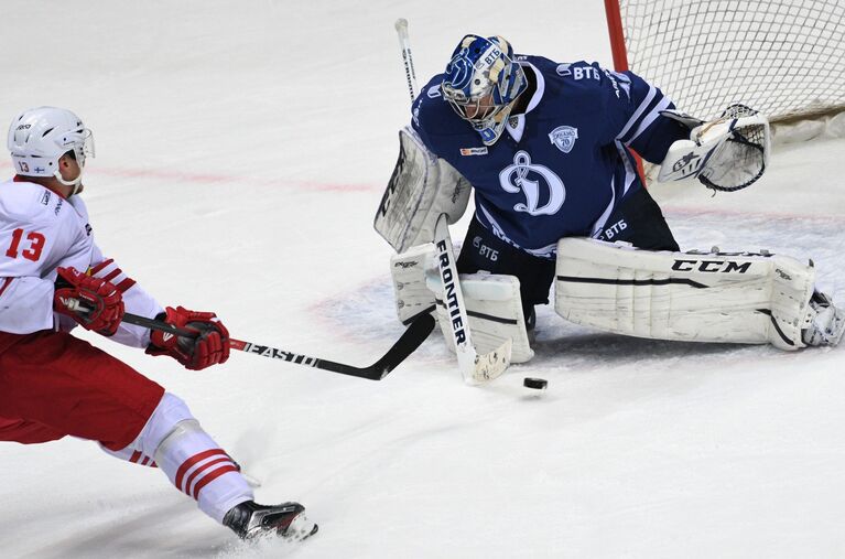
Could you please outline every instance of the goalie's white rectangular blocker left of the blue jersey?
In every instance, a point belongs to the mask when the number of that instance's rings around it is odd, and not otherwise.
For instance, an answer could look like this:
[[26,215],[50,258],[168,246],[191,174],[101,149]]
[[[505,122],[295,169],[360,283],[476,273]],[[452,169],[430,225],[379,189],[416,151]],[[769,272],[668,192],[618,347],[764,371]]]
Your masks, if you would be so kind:
[[405,127],[399,131],[399,159],[372,226],[397,252],[431,243],[441,214],[448,215],[449,224],[464,215],[469,190],[461,173]]

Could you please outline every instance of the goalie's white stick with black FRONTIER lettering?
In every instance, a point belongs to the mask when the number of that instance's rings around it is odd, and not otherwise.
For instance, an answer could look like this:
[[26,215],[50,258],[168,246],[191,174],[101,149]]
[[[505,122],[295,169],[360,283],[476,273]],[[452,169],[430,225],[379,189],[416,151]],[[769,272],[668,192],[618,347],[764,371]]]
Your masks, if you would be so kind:
[[[402,49],[408,89],[411,94],[411,104],[413,104],[416,98],[416,74],[411,56],[408,20],[400,18],[394,26],[399,35],[399,45]],[[464,293],[458,281],[452,237],[448,233],[448,214],[441,214],[437,218],[434,228],[434,246],[437,252],[437,269],[443,281],[444,302],[449,315],[449,332],[452,332],[452,337],[455,341],[461,375],[467,384],[481,384],[498,378],[510,365],[513,342],[508,338],[497,350],[487,354],[479,355],[476,352],[469,332],[469,318],[464,304]]]

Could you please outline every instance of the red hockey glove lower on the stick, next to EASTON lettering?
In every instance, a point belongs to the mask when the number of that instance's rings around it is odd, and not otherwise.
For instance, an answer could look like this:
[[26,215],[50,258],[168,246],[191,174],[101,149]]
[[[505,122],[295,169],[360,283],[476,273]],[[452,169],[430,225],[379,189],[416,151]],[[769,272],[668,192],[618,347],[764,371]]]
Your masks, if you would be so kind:
[[167,307],[164,322],[183,330],[196,331],[196,337],[150,332],[150,355],[170,355],[191,370],[199,370],[229,358],[229,331],[213,312],[188,311]]

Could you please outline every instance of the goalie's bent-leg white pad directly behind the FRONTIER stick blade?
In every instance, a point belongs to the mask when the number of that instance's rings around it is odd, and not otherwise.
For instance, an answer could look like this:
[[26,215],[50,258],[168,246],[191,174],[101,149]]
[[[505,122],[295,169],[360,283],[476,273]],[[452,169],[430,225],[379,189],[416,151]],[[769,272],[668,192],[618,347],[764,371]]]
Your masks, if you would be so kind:
[[[426,276],[429,289],[435,293],[437,322],[446,345],[455,352],[449,321],[452,316],[443,299],[443,283],[436,273]],[[476,352],[496,351],[506,340],[512,341],[511,363],[526,363],[534,356],[522,316],[519,280],[513,276],[462,273],[461,289],[469,319],[469,331]]]

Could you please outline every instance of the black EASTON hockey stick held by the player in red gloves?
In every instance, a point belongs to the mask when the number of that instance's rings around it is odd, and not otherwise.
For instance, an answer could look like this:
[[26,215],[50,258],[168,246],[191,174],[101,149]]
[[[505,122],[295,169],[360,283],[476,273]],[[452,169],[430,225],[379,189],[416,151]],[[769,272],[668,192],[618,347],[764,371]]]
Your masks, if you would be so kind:
[[[166,322],[147,319],[139,316],[138,314],[126,313],[123,314],[123,322],[129,324],[136,324],[138,326],[144,326],[151,330],[160,330],[169,334],[183,336],[183,337],[196,337],[197,333],[193,330],[178,329]],[[295,365],[305,365],[306,367],[322,368],[324,370],[331,370],[332,373],[339,373],[342,375],[349,375],[353,377],[369,378],[370,380],[381,380],[388,374],[393,370],[405,357],[411,355],[420,344],[422,344],[429,334],[434,330],[434,316],[423,313],[416,316],[413,322],[408,326],[401,337],[393,344],[393,347],[388,350],[379,361],[370,365],[369,367],[354,367],[344,363],[336,363],[334,361],[322,359],[319,357],[310,357],[299,353],[289,352],[286,350],[278,350],[270,347],[269,345],[253,344],[252,342],[243,342],[241,340],[229,338],[229,347],[246,353],[253,353],[262,357],[270,357],[271,359],[281,359]]]

